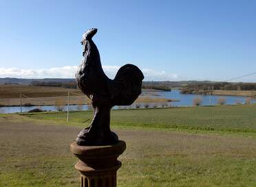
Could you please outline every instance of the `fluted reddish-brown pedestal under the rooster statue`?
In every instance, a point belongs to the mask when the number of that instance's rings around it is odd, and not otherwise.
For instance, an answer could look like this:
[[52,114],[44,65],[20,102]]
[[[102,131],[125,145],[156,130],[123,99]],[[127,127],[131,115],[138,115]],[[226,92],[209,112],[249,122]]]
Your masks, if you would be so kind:
[[70,149],[79,159],[75,168],[81,173],[81,187],[116,187],[116,171],[122,165],[117,158],[126,149],[124,141],[107,146],[79,146],[73,142]]

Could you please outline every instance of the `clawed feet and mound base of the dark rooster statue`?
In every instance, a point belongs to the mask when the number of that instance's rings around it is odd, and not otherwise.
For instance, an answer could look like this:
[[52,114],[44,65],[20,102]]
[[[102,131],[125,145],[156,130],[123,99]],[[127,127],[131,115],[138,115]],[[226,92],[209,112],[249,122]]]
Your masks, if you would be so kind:
[[114,132],[100,133],[90,127],[83,129],[76,138],[77,145],[114,145],[118,142],[118,136]]

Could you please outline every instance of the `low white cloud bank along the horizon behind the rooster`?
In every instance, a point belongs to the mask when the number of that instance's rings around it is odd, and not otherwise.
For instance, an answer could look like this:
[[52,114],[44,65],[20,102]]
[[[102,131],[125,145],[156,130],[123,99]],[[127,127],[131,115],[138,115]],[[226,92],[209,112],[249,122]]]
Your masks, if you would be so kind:
[[[114,78],[120,66],[103,66],[105,73]],[[0,77],[17,78],[74,78],[77,66],[63,66],[54,68],[0,68]],[[151,68],[142,68],[146,81],[166,81],[177,79],[177,74],[166,73],[165,71],[154,71]]]

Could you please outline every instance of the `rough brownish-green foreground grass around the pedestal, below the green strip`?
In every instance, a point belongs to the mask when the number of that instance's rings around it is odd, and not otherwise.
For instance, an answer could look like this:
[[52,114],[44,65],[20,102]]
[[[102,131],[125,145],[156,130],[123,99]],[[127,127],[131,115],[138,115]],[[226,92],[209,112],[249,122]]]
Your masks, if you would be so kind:
[[[77,159],[69,146],[81,127],[43,123],[1,119],[0,186],[79,186]],[[116,133],[127,142],[120,156],[120,187],[256,184],[255,138],[129,129]]]

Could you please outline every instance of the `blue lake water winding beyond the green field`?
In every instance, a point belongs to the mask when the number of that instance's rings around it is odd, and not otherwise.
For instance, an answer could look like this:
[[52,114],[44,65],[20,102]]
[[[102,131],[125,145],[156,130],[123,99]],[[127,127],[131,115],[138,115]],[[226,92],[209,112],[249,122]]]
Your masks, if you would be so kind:
[[[179,90],[171,90],[171,92],[153,92],[153,97],[166,98],[166,99],[178,99],[180,101],[173,101],[169,103],[169,105],[173,106],[191,106],[193,105],[193,99],[195,97],[200,97],[202,99],[202,105],[217,105],[217,100],[220,97],[224,97],[226,99],[226,104],[233,105],[239,101],[240,103],[245,103],[246,97],[239,96],[219,96],[219,95],[192,95],[192,94],[180,94]],[[256,103],[255,99],[251,100],[251,103]],[[63,110],[67,110],[67,106],[63,106]],[[54,105],[41,105],[39,106],[23,106],[22,112],[28,112],[35,108],[40,108],[41,110],[47,111],[56,111]],[[114,109],[119,109],[120,107],[115,106]],[[122,108],[122,107],[121,107]],[[131,105],[130,108],[135,108],[135,105]],[[78,110],[78,105],[70,105],[70,111]],[[83,105],[82,110],[88,110],[88,105]],[[21,108],[19,106],[11,106],[11,107],[0,107],[0,113],[15,113],[20,112]]]

